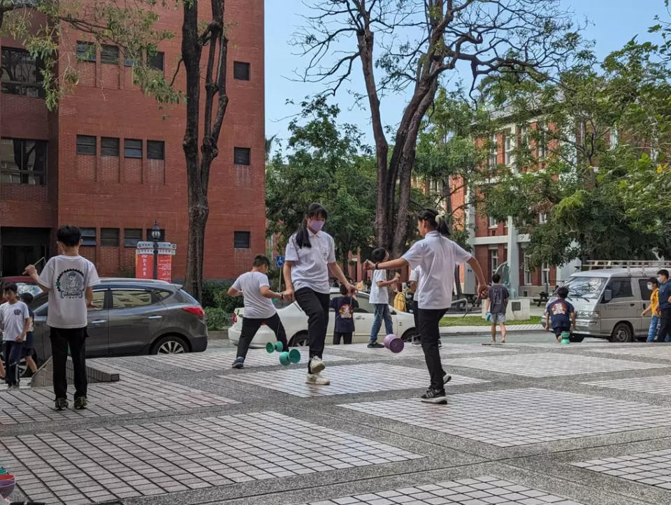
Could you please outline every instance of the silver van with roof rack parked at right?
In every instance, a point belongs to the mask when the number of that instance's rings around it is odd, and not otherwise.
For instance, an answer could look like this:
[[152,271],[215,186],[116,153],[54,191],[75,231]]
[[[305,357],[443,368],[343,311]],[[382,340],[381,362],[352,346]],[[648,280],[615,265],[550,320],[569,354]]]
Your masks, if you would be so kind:
[[[600,337],[632,342],[647,337],[650,316],[642,317],[641,313],[650,303],[647,281],[659,268],[609,268],[570,275],[563,286],[568,288],[568,301],[576,312],[576,330],[571,339],[581,342],[584,337]],[[552,295],[547,305],[556,299]]]

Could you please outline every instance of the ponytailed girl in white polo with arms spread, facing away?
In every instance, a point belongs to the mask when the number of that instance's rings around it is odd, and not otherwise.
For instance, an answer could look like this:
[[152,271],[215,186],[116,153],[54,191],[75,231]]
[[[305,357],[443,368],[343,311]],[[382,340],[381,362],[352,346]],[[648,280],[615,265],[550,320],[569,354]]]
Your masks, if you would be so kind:
[[419,307],[419,335],[421,348],[429,374],[431,386],[422,402],[446,404],[445,383],[451,377],[445,374],[440,362],[440,329],[438,323],[452,306],[452,286],[454,286],[454,268],[460,263],[468,263],[477,276],[477,292],[486,296],[487,285],[477,259],[458,244],[447,238],[449,221],[445,214],[433,209],[424,209],[417,214],[417,231],[424,240],[418,240],[401,258],[373,265],[380,270],[399,270],[410,265],[420,268],[417,291],[414,300]]

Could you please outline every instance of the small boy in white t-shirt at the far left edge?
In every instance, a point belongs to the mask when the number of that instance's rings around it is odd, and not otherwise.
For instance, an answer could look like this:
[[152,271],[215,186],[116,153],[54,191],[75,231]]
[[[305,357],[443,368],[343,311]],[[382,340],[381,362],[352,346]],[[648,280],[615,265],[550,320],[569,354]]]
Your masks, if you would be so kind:
[[0,305],[2,325],[2,352],[7,365],[5,382],[10,389],[19,388],[19,361],[23,353],[23,342],[30,326],[28,306],[17,297],[18,287],[10,282],[4,288],[6,303]]

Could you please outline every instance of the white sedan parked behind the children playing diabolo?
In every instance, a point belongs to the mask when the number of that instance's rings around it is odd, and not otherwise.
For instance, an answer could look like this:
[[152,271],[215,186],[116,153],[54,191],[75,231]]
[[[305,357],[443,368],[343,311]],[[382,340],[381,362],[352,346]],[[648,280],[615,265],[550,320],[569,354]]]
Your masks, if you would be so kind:
[[[341,296],[338,290],[331,290],[331,298]],[[373,326],[375,319],[375,306],[368,301],[368,293],[358,293],[356,301],[359,302],[359,308],[354,310],[354,334],[352,335],[352,342],[368,342],[370,339],[370,328]],[[391,312],[391,321],[394,322],[394,334],[410,340],[417,331],[414,328],[414,318],[412,314],[407,312],[400,312],[394,307],[389,306]],[[284,331],[287,332],[287,339],[289,339],[290,346],[306,346],[310,343],[308,337],[308,316],[301,310],[296,302],[287,305],[282,309],[277,310],[280,314]],[[243,330],[243,317],[245,309],[236,309],[233,314],[233,325],[229,328],[229,340],[233,344],[237,344],[240,339],[240,332]],[[326,330],[326,345],[333,343],[333,323],[335,321],[335,311],[331,309],[329,314],[329,328]],[[384,322],[378,340],[382,342],[384,339]],[[263,325],[259,328],[257,335],[252,340],[252,347],[265,347],[268,342],[275,342],[275,333],[267,326]]]

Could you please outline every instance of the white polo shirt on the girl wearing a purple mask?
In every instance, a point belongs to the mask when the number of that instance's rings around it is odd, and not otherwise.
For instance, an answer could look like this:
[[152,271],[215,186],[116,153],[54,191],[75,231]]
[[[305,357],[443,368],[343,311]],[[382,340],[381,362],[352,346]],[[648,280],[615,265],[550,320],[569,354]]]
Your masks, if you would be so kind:
[[335,263],[335,242],[325,231],[312,233],[308,228],[308,234],[312,247],[299,249],[294,233],[289,237],[287,250],[284,253],[284,261],[294,261],[294,267],[291,268],[294,292],[310,288],[317,293],[331,293],[329,263]]

